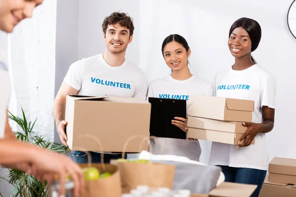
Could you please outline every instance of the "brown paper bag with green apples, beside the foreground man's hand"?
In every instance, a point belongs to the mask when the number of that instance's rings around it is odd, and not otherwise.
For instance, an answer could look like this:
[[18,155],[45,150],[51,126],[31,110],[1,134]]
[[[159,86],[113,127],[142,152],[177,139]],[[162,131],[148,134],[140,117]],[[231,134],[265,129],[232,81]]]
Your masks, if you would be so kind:
[[[82,168],[89,167],[88,164],[79,164]],[[112,175],[98,180],[86,181],[85,190],[81,197],[121,197],[122,189],[120,172],[116,165],[91,164],[96,167],[100,174],[110,172]]]

